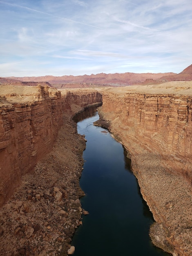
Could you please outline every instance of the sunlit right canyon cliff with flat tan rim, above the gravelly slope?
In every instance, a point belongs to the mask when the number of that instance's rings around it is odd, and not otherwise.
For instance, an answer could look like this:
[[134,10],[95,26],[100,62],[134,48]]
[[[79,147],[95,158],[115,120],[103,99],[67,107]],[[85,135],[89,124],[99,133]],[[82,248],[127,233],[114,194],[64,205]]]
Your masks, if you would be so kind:
[[171,82],[108,89],[103,92],[102,106],[105,119],[111,122],[110,129],[121,135],[123,141],[131,140],[130,153],[133,147],[134,152],[144,148],[161,155],[167,168],[174,169],[190,183],[191,85],[191,82]]

